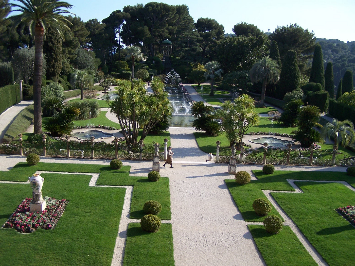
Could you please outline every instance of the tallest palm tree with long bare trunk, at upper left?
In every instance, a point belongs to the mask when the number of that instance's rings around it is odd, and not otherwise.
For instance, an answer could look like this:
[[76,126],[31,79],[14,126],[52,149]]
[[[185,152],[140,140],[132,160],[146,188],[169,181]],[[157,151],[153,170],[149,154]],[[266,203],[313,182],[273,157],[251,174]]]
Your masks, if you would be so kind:
[[[19,15],[12,16],[13,26],[21,24],[22,29],[29,27],[29,32],[34,36],[34,68],[33,68],[33,102],[34,102],[34,129],[33,133],[42,133],[42,108],[41,108],[41,85],[43,70],[43,41],[49,26],[56,29],[61,36],[62,29],[69,29],[70,23],[62,14],[70,13],[72,5],[59,0],[16,0],[21,4],[11,4],[16,7],[12,11],[20,11]],[[75,14],[73,14],[75,15]]]

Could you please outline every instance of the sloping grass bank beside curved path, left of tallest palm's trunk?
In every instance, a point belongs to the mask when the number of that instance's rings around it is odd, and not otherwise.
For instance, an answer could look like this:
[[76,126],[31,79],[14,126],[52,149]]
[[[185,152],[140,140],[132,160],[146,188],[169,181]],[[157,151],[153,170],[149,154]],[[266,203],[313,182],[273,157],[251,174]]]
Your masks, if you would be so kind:
[[33,104],[24,108],[7,129],[4,140],[11,142],[18,134],[26,131],[33,120]]

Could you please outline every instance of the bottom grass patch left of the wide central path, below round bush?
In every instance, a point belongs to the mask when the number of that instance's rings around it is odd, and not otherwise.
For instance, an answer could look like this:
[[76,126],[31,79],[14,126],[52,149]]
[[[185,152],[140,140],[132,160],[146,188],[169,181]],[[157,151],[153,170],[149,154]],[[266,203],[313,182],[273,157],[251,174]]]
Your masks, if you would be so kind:
[[130,223],[123,265],[174,266],[171,224],[162,223],[158,232],[149,233],[139,223]]

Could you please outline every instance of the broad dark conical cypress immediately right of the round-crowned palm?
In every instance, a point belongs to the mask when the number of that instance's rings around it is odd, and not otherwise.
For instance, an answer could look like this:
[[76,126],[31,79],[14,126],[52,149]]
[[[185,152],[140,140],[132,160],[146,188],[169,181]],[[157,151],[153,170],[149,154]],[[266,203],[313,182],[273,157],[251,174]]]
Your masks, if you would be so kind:
[[283,99],[286,93],[292,92],[300,87],[300,77],[297,54],[294,50],[289,50],[285,55],[280,73],[278,93],[280,99]]

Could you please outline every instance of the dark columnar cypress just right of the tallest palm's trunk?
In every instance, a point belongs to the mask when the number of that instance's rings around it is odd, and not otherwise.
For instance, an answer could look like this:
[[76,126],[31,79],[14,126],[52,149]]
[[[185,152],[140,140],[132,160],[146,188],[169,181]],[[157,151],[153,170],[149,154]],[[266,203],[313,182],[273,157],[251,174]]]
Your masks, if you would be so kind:
[[45,52],[47,59],[46,77],[58,82],[59,74],[62,70],[62,39],[52,27],[49,27],[46,33],[43,52]]

